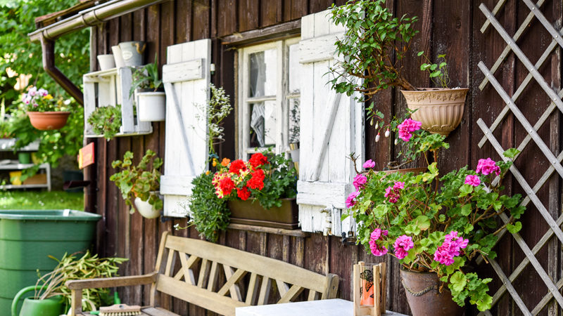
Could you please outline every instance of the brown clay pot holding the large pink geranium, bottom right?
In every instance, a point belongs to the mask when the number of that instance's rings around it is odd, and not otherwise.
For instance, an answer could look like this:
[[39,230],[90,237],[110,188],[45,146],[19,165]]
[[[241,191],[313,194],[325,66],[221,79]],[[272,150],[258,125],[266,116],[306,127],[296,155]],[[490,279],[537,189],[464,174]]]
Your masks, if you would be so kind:
[[440,282],[433,272],[412,272],[400,269],[400,279],[405,288],[412,316],[461,316],[464,308],[452,301],[447,287],[438,291]]

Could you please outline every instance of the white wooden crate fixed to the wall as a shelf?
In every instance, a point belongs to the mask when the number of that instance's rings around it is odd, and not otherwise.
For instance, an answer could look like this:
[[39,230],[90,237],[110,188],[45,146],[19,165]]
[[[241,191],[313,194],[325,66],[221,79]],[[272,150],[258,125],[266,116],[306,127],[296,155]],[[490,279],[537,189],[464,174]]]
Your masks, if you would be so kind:
[[84,136],[102,137],[94,133],[88,124],[88,117],[96,107],[121,105],[121,127],[116,136],[144,135],[153,132],[151,122],[139,121],[135,105],[129,98],[132,72],[129,67],[113,68],[90,72],[82,77],[84,81]]

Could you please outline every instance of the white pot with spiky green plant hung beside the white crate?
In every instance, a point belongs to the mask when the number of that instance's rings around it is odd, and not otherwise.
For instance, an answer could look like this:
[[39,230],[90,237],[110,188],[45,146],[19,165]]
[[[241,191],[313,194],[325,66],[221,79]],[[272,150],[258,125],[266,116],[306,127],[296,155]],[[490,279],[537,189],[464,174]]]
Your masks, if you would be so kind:
[[158,79],[158,62],[143,67],[132,67],[133,82],[129,90],[129,98],[137,99],[137,115],[139,121],[164,121],[166,110],[166,94],[159,91],[163,81]]

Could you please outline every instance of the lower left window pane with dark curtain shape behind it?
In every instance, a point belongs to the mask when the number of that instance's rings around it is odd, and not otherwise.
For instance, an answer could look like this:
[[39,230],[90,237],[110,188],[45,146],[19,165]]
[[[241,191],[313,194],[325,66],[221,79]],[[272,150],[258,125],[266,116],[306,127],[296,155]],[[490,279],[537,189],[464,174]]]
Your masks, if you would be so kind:
[[251,104],[251,147],[276,145],[276,101]]

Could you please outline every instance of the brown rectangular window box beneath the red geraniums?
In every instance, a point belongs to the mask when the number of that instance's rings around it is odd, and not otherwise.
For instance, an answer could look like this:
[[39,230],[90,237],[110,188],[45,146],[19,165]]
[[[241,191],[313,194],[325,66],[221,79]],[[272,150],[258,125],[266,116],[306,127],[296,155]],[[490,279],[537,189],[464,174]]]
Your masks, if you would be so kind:
[[299,226],[299,209],[295,199],[282,199],[280,207],[264,209],[258,201],[229,201],[231,223],[284,228],[294,230]]

